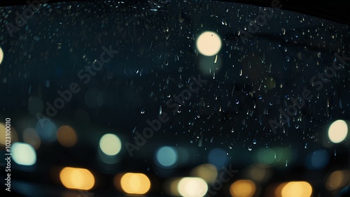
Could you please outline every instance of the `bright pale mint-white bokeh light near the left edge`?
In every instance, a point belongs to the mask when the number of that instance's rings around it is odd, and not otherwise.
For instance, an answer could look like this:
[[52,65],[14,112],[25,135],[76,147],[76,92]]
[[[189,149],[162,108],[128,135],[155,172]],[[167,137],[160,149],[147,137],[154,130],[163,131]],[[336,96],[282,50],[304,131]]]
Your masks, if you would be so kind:
[[36,163],[34,147],[26,143],[13,143],[11,146],[12,159],[22,166],[32,166]]

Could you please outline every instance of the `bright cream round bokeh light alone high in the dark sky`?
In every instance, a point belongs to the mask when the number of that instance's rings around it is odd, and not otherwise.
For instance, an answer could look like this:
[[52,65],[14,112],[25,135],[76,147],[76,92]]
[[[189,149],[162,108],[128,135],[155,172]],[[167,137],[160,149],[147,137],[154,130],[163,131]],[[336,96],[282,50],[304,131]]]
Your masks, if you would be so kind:
[[213,56],[221,50],[221,39],[214,31],[204,31],[197,38],[197,50],[205,56]]

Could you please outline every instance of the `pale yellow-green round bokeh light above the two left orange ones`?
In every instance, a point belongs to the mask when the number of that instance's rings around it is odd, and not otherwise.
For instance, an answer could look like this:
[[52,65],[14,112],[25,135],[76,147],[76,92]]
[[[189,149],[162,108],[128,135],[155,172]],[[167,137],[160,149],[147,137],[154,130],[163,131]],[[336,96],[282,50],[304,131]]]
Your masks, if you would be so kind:
[[122,143],[118,136],[112,133],[107,133],[102,136],[101,140],[99,140],[99,147],[101,148],[102,152],[104,152],[104,154],[112,156],[120,152]]

